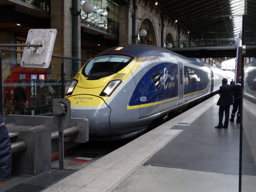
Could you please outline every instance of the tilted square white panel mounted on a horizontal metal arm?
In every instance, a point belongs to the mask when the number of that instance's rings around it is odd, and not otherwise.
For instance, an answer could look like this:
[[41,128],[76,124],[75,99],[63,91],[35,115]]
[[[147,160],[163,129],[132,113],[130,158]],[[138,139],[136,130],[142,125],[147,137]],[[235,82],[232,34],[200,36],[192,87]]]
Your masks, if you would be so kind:
[[42,47],[24,48],[21,67],[48,68],[57,29],[30,29],[26,44],[42,44]]

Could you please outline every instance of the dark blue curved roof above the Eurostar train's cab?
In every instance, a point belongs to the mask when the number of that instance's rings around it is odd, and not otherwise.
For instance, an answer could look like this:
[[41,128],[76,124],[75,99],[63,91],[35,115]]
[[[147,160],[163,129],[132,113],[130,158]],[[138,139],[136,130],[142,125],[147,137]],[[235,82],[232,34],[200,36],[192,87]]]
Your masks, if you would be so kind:
[[[116,50],[116,48],[123,47],[120,50]],[[147,56],[160,56],[163,55],[163,52],[170,52],[168,49],[152,46],[152,45],[145,45],[145,44],[127,44],[127,45],[120,45],[117,47],[112,47],[101,52],[99,55],[102,54],[128,54],[134,57],[147,57]],[[177,54],[178,55],[178,54]]]

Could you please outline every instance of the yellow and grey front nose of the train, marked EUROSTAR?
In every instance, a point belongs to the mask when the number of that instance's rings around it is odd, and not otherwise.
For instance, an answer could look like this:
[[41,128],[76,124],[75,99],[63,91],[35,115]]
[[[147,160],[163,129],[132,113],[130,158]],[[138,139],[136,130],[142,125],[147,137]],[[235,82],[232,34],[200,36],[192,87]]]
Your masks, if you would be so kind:
[[111,109],[105,101],[94,95],[69,96],[71,117],[87,118],[89,120],[89,137],[110,136],[109,116]]

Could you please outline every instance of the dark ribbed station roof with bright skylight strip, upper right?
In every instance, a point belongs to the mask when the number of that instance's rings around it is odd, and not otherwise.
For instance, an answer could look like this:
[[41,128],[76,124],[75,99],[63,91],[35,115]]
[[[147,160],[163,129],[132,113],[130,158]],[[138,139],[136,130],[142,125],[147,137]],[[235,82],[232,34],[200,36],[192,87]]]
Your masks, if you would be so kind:
[[237,38],[242,29],[244,0],[158,0],[159,9],[194,39]]

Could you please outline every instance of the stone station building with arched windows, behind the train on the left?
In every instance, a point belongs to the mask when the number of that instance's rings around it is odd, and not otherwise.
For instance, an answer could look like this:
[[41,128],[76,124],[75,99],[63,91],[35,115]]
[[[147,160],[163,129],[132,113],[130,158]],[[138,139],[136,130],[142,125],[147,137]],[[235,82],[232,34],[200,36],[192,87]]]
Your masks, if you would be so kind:
[[[26,88],[29,111],[33,106],[35,110],[39,106],[39,111],[43,105],[47,108],[51,99],[61,94],[61,64],[67,89],[81,66],[108,48],[132,43],[188,47],[195,41],[179,21],[153,1],[88,1],[93,4],[88,15],[81,9],[84,0],[0,1],[0,44],[25,44],[29,29],[57,29],[48,69],[22,68],[24,48],[0,47],[3,93],[8,89],[12,92],[7,99],[3,94],[5,111],[20,80]],[[145,37],[139,35],[142,29],[146,30]]]

